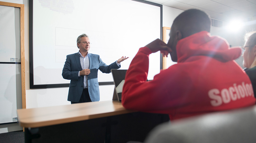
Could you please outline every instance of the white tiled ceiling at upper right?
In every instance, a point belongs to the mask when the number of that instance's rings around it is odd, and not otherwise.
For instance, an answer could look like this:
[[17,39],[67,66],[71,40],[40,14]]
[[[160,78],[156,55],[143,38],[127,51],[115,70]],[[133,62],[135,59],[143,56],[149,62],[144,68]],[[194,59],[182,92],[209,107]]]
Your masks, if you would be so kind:
[[[187,10],[197,8],[211,18],[229,21],[234,18],[255,20],[256,0],[147,0],[169,7]],[[254,17],[254,18],[253,18]]]

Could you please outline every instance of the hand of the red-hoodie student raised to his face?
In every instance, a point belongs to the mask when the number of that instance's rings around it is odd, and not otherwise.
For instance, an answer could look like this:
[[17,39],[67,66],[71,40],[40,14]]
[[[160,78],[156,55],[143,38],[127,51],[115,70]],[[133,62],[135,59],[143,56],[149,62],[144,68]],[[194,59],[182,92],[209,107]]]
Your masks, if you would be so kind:
[[166,57],[168,56],[169,52],[172,52],[171,48],[168,47],[167,44],[160,39],[152,41],[151,43],[146,45],[146,47],[148,47],[152,51],[152,53],[160,51],[163,54],[163,56]]

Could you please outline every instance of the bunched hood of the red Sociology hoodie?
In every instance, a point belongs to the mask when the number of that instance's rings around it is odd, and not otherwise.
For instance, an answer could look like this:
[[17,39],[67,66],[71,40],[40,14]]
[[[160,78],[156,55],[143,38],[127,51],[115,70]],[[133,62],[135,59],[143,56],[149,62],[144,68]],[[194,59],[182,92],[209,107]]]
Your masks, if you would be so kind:
[[227,62],[241,55],[240,48],[230,48],[227,41],[201,31],[178,41],[176,46],[177,62],[185,62],[191,56],[209,56]]

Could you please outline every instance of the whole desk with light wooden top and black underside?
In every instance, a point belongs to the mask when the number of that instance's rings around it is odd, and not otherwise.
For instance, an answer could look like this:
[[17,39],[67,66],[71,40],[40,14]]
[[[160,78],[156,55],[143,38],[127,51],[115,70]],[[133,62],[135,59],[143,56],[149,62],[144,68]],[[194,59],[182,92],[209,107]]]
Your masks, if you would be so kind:
[[25,127],[25,142],[143,141],[153,127],[166,121],[159,114],[126,110],[118,101],[18,109],[17,114]]

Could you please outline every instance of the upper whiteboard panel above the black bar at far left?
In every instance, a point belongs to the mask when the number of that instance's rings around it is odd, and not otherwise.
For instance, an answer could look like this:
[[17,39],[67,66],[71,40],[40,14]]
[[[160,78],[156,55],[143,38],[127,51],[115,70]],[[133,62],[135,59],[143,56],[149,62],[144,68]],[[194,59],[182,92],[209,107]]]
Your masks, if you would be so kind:
[[0,5],[0,21],[0,62],[21,62],[20,9]]

